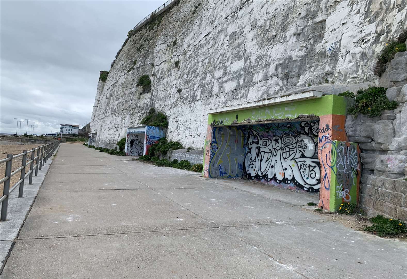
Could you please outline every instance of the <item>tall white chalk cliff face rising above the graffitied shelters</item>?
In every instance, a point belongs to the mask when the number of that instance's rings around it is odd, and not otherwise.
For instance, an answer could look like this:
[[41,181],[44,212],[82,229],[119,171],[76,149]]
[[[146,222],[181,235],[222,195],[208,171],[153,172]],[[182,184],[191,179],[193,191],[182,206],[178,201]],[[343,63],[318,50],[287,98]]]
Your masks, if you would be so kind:
[[[304,87],[338,93],[377,83],[374,58],[405,27],[406,6],[180,0],[129,39],[107,81],[98,83],[91,132],[99,143],[116,143],[153,107],[168,116],[168,139],[202,148],[208,109]],[[136,85],[142,75],[152,81],[147,93]]]

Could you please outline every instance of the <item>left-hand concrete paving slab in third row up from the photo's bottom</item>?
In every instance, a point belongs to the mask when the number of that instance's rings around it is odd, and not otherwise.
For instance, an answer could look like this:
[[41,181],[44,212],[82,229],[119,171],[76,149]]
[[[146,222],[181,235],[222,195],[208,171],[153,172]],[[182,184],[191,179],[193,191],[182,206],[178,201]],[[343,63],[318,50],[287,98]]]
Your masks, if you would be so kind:
[[41,190],[111,190],[149,189],[126,174],[55,174],[49,173]]

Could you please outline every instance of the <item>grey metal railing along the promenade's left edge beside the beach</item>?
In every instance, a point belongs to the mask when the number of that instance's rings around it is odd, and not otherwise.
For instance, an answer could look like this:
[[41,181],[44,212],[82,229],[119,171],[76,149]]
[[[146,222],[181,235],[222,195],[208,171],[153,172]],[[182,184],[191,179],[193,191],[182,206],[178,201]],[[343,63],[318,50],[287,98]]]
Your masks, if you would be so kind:
[[[22,153],[13,155],[7,154],[7,158],[0,160],[0,164],[6,163],[6,171],[5,176],[0,179],[0,183],[4,182],[3,186],[3,196],[0,198],[1,204],[1,217],[0,221],[5,221],[7,218],[7,207],[9,204],[9,196],[11,192],[15,190],[18,186],[18,197],[23,197],[23,190],[24,190],[24,182],[28,177],[28,184],[33,184],[33,174],[34,176],[38,176],[38,171],[42,169],[42,166],[45,165],[47,160],[53,154],[55,149],[59,146],[61,141],[55,141],[53,143],[48,143],[45,145],[38,146],[37,148],[33,148],[31,150],[24,150]],[[37,151],[37,156],[35,156],[35,151]],[[29,161],[27,162],[27,156],[31,153],[31,157],[29,157]],[[11,172],[11,168],[13,166],[13,160],[15,158],[22,156],[22,163],[21,167],[16,169],[15,171]],[[35,162],[35,165],[34,165]],[[25,173],[27,167],[30,167],[30,170]],[[11,177],[15,174],[20,172],[20,180],[10,188]]]

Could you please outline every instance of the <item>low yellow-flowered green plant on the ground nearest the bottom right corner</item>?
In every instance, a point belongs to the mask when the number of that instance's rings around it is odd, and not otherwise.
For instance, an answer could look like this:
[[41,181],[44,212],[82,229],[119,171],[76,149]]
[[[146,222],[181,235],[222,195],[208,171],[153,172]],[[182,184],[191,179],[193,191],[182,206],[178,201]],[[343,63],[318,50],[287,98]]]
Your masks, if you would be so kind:
[[372,221],[372,226],[365,226],[364,231],[369,231],[371,233],[376,233],[379,236],[385,235],[398,235],[400,233],[407,233],[406,225],[403,221],[385,218],[383,215],[376,215],[370,218]]

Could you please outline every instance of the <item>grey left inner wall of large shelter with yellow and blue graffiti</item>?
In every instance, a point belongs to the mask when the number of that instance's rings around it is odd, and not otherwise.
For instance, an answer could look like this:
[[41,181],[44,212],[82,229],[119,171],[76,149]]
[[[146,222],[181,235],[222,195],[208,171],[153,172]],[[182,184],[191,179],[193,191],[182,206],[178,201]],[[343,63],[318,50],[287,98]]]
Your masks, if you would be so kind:
[[235,178],[243,176],[246,154],[242,127],[214,127],[210,144],[208,176]]

